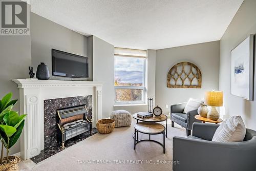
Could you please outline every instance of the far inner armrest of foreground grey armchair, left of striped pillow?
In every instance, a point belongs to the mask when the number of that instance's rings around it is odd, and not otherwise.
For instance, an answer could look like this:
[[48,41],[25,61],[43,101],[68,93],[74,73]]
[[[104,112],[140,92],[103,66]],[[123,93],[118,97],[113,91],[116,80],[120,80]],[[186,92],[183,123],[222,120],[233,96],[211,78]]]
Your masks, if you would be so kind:
[[192,135],[211,141],[218,127],[219,127],[219,124],[194,123]]

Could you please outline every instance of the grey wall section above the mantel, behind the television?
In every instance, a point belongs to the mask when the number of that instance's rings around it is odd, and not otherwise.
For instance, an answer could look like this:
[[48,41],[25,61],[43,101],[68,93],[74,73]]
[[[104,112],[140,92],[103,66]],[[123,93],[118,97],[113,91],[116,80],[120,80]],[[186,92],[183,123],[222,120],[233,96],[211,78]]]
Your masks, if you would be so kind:
[[[31,12],[31,53],[32,66],[35,71],[40,62],[45,62],[49,68],[50,79],[71,79],[52,76],[52,49],[88,57],[88,40],[77,32],[58,25],[49,19]],[[89,57],[89,79],[92,80],[92,59]],[[81,78],[79,78],[80,80]]]

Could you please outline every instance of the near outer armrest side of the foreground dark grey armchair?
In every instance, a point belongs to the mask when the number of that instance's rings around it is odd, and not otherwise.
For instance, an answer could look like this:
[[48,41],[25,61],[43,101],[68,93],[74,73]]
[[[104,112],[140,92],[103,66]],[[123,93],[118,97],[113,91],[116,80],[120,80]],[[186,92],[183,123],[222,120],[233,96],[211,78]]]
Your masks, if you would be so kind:
[[250,151],[249,148],[241,149],[236,142],[174,137],[173,160],[179,164],[173,164],[173,170],[254,170],[255,158],[251,158]]

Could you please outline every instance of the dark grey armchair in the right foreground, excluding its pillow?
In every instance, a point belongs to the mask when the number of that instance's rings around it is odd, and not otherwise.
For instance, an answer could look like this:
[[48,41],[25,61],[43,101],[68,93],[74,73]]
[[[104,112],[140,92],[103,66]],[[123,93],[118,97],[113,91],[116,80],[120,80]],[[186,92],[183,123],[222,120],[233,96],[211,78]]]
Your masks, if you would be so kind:
[[256,170],[256,131],[246,129],[243,142],[211,141],[219,124],[194,123],[192,135],[173,138],[173,170]]

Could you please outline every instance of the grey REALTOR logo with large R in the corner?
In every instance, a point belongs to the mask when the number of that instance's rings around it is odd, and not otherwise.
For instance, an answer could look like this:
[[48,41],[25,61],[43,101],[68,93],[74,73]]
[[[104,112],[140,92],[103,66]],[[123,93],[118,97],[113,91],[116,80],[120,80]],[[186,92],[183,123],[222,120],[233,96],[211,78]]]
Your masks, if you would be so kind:
[[29,35],[30,6],[22,1],[1,0],[0,35]]

